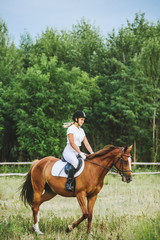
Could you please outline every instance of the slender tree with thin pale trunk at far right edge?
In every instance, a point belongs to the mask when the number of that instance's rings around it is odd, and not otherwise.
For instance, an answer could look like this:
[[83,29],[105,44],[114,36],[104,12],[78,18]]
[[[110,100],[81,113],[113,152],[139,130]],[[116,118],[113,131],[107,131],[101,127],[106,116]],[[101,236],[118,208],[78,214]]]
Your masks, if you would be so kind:
[[151,37],[144,42],[138,59],[145,76],[149,78],[149,87],[153,89],[152,129],[153,129],[153,160],[156,162],[159,152],[160,129],[160,36]]

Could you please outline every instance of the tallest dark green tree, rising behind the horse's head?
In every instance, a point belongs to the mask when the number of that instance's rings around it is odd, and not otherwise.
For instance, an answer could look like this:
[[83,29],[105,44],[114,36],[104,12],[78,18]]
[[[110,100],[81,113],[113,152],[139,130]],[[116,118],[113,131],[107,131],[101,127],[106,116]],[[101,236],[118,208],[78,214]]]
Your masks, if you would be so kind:
[[[99,78],[103,99],[97,104],[112,136],[105,139],[120,145],[137,141],[138,153],[143,153],[141,156],[148,157],[149,161],[152,159],[149,123],[154,91],[138,56],[144,44],[158,34],[157,28],[158,25],[155,27],[145,20],[144,14],[136,14],[133,24],[128,22],[128,26],[122,27],[117,35],[114,31],[109,35],[104,60],[106,76]],[[144,138],[146,143],[142,145]]]

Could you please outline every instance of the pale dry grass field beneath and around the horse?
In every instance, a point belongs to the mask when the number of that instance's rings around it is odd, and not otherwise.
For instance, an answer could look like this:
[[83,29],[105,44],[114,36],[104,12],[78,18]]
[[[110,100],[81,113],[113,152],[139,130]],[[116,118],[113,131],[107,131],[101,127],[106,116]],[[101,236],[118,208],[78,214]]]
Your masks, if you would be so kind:
[[107,175],[94,207],[93,235],[86,234],[84,221],[66,233],[66,227],[81,216],[75,198],[56,196],[40,208],[40,230],[32,231],[32,211],[19,200],[23,177],[0,178],[0,239],[55,240],[160,240],[160,175],[134,176],[126,184]]

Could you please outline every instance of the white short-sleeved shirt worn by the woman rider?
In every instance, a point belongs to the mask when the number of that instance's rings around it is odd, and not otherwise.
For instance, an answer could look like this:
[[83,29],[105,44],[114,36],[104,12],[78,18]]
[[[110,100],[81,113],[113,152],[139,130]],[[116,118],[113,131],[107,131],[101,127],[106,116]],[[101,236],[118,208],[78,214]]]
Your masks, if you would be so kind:
[[85,132],[84,130],[79,127],[77,128],[74,124],[71,125],[68,129],[67,129],[67,144],[70,144],[69,139],[68,139],[68,134],[72,133],[73,137],[74,137],[74,143],[80,147],[81,143],[85,137]]

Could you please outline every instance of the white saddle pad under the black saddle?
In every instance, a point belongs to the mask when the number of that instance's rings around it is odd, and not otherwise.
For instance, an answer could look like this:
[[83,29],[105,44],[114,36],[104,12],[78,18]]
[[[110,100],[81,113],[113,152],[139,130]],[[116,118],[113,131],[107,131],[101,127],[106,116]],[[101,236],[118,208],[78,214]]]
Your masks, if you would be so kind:
[[[52,176],[67,178],[68,176],[64,171],[64,167],[66,164],[67,162],[63,162],[62,160],[57,161],[52,167],[52,170],[51,170]],[[84,169],[84,160],[82,160],[82,166],[79,169],[79,171],[74,174],[74,177],[78,177],[82,173],[83,169]]]

